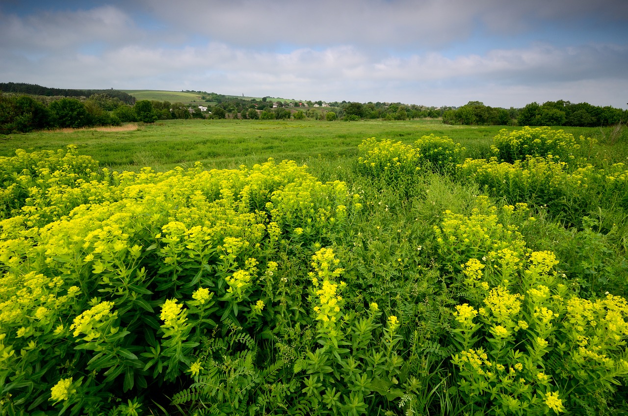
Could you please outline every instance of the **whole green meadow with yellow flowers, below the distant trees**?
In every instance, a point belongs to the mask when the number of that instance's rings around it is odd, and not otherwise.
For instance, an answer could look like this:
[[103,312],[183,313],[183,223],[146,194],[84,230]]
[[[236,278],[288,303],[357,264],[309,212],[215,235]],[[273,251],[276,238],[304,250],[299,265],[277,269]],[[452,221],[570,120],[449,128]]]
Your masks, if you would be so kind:
[[133,128],[0,143],[1,414],[628,412],[625,128]]

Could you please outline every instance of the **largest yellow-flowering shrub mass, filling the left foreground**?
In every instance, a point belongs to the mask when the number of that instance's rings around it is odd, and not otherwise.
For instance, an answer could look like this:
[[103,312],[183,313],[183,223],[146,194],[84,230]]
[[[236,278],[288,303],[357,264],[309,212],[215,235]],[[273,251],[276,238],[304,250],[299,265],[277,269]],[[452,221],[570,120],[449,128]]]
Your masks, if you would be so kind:
[[87,161],[73,151],[2,160],[5,172],[34,171],[18,187],[36,184],[0,221],[0,385],[14,412],[100,414],[112,394],[184,377],[218,322],[252,331],[263,302],[276,326],[287,311],[262,282],[278,253],[329,241],[353,210],[344,183],[294,162],[85,180],[73,170]]

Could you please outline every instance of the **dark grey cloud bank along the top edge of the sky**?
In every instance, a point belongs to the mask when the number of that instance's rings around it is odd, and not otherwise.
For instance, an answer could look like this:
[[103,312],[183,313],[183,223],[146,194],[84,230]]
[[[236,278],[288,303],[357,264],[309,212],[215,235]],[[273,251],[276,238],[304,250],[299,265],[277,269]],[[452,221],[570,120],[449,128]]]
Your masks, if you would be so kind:
[[145,8],[179,30],[241,47],[351,44],[440,48],[476,30],[516,36],[540,25],[628,21],[624,0],[143,0]]

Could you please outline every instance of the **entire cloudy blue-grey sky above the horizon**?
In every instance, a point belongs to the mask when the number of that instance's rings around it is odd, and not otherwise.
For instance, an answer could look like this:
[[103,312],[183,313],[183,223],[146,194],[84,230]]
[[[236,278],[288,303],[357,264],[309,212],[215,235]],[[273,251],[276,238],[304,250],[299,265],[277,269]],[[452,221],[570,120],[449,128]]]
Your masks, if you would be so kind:
[[627,0],[0,0],[0,82],[628,109]]

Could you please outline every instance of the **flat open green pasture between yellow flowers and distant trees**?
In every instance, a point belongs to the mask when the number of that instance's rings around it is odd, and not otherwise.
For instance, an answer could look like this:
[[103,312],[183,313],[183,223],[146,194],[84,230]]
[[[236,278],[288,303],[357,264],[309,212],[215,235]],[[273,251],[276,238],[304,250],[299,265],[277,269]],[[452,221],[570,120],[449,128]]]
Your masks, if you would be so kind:
[[[187,93],[176,93],[187,94]],[[139,124],[132,131],[36,131],[13,134],[0,143],[0,155],[16,149],[57,150],[77,145],[79,153],[93,156],[104,166],[139,170],[150,166],[168,170],[200,161],[207,168],[253,165],[268,158],[305,163],[311,158],[334,159],[355,156],[365,138],[413,143],[421,136],[448,136],[467,148],[473,158],[490,156],[492,138],[503,126],[452,126],[440,120],[412,121],[257,121],[257,120],[171,120]],[[507,127],[512,130],[514,127]],[[598,138],[596,151],[606,151],[607,130],[565,128],[575,136]],[[614,161],[626,161],[626,152],[608,151]]]

